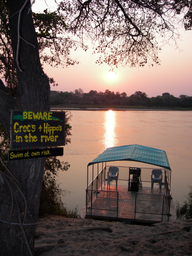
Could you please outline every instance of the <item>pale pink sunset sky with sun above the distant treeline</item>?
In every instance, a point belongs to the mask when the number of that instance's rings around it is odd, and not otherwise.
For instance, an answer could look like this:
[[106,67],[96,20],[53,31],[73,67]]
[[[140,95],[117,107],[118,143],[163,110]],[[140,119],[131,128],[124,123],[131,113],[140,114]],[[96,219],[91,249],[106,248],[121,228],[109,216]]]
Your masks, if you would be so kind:
[[[37,0],[33,11],[43,11],[54,5],[53,0],[47,0],[41,5]],[[53,9],[51,9],[53,10]],[[177,41],[178,48],[174,45],[166,45],[159,53],[161,65],[149,68],[119,68],[116,77],[109,76],[110,67],[107,64],[98,65],[95,61],[99,55],[92,54],[91,49],[87,52],[82,50],[71,53],[74,59],[80,61],[79,65],[68,68],[52,68],[44,65],[44,71],[49,77],[53,77],[57,87],[51,90],[74,91],[81,88],[84,93],[90,90],[119,91],[127,95],[135,91],[145,92],[148,97],[170,93],[175,97],[181,94],[192,96],[192,31],[180,29],[181,40]]]

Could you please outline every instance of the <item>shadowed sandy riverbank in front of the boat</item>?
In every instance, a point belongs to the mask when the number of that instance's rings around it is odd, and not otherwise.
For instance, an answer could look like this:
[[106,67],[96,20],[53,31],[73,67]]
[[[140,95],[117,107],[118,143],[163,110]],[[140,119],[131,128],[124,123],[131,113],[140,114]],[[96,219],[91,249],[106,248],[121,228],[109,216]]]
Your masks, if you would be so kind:
[[47,215],[35,232],[37,255],[192,255],[192,219],[151,226]]

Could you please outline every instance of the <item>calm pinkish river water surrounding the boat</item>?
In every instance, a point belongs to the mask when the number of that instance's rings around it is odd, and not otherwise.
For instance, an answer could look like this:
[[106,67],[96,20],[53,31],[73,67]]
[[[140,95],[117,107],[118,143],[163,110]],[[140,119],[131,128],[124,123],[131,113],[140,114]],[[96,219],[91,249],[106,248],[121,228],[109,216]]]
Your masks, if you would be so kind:
[[[106,148],[139,144],[165,150],[172,169],[174,202],[185,200],[192,185],[192,111],[72,110],[71,144],[64,146],[61,161],[71,165],[60,172],[58,183],[70,195],[62,199],[69,209],[85,204],[87,164]],[[151,167],[143,163],[120,162],[118,166]]]

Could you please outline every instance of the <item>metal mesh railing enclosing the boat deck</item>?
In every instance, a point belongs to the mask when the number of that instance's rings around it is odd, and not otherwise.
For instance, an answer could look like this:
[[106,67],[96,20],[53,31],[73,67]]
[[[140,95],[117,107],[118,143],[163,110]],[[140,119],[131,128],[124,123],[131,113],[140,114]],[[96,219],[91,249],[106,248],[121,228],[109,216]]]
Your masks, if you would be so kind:
[[[87,209],[90,210],[92,215],[92,209],[116,211],[118,217],[118,191],[106,191],[102,189],[107,179],[107,172],[110,166],[105,166],[100,173],[94,178],[94,180],[86,188],[86,213]],[[117,166],[119,168],[118,180],[129,180],[129,167]],[[154,168],[141,168],[141,180],[142,182],[151,182],[151,171]],[[158,168],[160,169],[160,168]],[[136,193],[135,197],[135,215],[136,213],[143,214],[157,214],[168,216],[170,212],[170,173],[167,169],[161,169],[163,171],[163,183],[165,195],[152,195]]]

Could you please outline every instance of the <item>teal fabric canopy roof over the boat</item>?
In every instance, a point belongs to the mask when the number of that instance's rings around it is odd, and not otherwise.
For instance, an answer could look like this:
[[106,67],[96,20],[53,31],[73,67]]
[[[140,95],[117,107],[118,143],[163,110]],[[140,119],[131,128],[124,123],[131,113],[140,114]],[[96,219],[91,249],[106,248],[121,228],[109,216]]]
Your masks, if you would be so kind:
[[109,147],[87,166],[94,165],[94,163],[112,161],[135,161],[149,163],[151,165],[156,165],[171,170],[164,150],[140,146],[137,144]]

